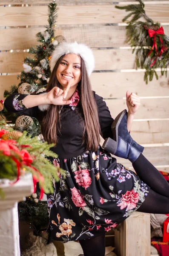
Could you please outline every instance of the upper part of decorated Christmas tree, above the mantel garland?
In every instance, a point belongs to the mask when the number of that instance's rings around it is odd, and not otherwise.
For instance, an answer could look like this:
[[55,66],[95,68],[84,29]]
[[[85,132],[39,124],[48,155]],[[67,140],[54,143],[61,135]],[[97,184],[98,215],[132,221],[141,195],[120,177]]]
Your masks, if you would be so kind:
[[[51,75],[49,60],[52,52],[58,43],[65,40],[61,35],[54,36],[57,26],[57,3],[55,3],[55,0],[48,6],[48,15],[49,25],[45,26],[45,31],[36,35],[40,45],[29,49],[30,56],[25,58],[24,70],[18,76],[20,77],[20,83],[12,85],[10,90],[5,90],[5,98],[11,93],[35,94],[46,90],[46,85]],[[40,134],[40,125],[37,119],[29,116],[19,116],[17,113],[9,113],[5,108],[3,108],[1,114],[15,124],[14,129],[26,130],[32,137]]]

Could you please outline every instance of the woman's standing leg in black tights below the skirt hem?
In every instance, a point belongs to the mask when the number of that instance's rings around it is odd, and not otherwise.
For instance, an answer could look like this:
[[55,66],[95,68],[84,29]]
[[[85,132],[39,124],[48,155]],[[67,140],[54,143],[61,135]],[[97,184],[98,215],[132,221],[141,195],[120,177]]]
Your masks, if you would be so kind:
[[79,242],[84,256],[105,256],[105,233]]

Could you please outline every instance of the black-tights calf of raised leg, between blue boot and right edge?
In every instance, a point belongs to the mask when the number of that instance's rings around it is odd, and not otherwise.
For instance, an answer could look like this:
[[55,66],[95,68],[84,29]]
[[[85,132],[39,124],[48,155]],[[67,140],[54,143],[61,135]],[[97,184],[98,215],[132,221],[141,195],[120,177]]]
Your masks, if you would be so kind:
[[169,198],[169,183],[143,154],[140,154],[132,165],[143,182],[150,186],[155,192]]

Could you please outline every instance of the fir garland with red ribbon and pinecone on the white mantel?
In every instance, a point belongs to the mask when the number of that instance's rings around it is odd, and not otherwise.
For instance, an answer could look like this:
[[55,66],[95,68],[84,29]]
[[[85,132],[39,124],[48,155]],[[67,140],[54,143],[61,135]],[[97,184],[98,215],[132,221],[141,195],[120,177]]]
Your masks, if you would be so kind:
[[13,183],[16,183],[20,175],[32,172],[34,192],[39,182],[41,199],[43,191],[53,192],[53,181],[59,180],[60,173],[64,177],[65,172],[46,158],[57,158],[57,154],[50,150],[53,144],[43,143],[37,137],[31,138],[26,134],[26,131],[21,133],[6,128],[5,122],[0,122],[0,179],[15,179]]

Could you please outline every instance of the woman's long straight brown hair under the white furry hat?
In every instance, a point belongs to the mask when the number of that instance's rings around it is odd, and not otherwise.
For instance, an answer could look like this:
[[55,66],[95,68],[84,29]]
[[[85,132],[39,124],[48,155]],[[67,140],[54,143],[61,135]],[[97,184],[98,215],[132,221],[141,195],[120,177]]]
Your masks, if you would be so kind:
[[[63,55],[64,56],[64,55]],[[63,58],[61,56],[57,63],[54,66],[52,74],[50,76],[50,80],[47,86],[47,91],[52,90],[53,87],[57,86],[61,88],[62,86],[57,81],[56,72],[57,68]],[[89,80],[89,76],[87,74],[86,66],[81,59],[81,80],[78,84],[80,102],[82,105],[83,116],[84,116],[84,131],[83,131],[83,143],[86,145],[87,150],[96,151],[97,146],[99,144],[99,134],[100,134],[100,123],[98,118],[97,112],[97,105],[95,102],[95,98],[92,92],[91,83]],[[43,117],[41,131],[43,134],[44,139],[48,143],[55,143],[58,142],[58,135],[60,135],[60,105],[50,105],[48,111],[46,112],[45,116]]]

